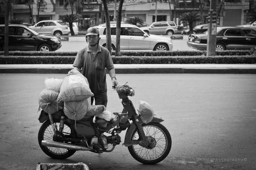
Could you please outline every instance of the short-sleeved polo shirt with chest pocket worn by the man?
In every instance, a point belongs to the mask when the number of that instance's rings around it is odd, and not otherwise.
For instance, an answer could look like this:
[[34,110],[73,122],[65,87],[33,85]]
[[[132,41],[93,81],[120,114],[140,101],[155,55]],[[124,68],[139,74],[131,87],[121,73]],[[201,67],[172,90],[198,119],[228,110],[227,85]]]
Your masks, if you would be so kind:
[[106,69],[114,68],[111,55],[107,48],[97,44],[98,49],[93,56],[89,46],[77,53],[73,66],[82,69],[82,74],[87,78],[93,93],[107,91]]

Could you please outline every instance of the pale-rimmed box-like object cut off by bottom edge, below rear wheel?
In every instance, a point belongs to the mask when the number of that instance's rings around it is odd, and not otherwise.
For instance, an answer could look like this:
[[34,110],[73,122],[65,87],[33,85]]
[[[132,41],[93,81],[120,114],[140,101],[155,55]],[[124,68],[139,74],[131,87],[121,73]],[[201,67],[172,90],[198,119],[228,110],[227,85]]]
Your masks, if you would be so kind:
[[39,163],[36,170],[89,170],[89,167],[84,163]]

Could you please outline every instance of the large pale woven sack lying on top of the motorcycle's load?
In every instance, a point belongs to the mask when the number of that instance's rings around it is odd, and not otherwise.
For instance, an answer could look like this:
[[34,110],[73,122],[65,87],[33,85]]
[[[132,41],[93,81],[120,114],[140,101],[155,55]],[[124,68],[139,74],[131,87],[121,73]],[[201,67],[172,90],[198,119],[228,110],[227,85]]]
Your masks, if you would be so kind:
[[94,94],[89,88],[87,79],[77,70],[64,78],[60,86],[60,101],[79,101],[90,98]]

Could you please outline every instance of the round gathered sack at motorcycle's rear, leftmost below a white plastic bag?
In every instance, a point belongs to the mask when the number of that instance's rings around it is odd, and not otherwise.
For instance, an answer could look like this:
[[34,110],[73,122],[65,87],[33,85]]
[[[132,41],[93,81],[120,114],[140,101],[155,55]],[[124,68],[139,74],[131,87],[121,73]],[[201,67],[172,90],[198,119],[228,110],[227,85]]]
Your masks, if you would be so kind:
[[53,114],[57,112],[58,110],[62,109],[64,106],[63,101],[60,101],[57,105],[58,95],[59,93],[57,91],[44,89],[39,94],[39,98],[38,98],[39,106],[46,113]]

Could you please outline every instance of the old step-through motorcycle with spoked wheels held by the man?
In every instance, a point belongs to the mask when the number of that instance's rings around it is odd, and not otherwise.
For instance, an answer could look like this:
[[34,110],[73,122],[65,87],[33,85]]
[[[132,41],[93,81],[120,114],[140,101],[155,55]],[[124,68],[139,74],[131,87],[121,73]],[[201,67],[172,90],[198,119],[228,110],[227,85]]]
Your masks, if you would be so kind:
[[122,112],[113,113],[115,117],[107,123],[106,128],[99,127],[94,116],[85,115],[75,122],[65,116],[63,110],[53,114],[42,110],[39,121],[43,124],[38,132],[38,142],[43,152],[54,159],[66,159],[77,150],[111,152],[121,143],[118,134],[126,130],[123,145],[128,147],[135,160],[144,164],[164,160],[172,145],[169,131],[161,124],[164,120],[153,116],[149,123],[143,123],[142,113],[139,110],[137,113],[128,99],[128,96],[135,95],[134,88],[118,85],[115,90],[124,108]]

